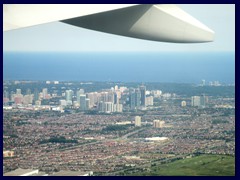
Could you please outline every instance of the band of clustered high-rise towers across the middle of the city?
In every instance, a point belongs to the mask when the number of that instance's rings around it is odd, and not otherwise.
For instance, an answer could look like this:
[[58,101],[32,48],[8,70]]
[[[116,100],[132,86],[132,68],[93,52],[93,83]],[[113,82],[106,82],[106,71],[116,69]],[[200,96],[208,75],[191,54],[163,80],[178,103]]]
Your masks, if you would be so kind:
[[[168,99],[171,97],[170,93],[162,94],[159,90],[147,91],[146,86],[141,85],[138,88],[127,88],[116,85],[111,89],[105,89],[100,92],[88,92],[85,93],[84,89],[78,89],[73,91],[71,89],[61,91],[59,90],[48,92],[47,88],[43,88],[41,92],[37,88],[31,93],[30,89],[25,90],[25,95],[22,94],[21,89],[16,89],[15,92],[4,90],[3,103],[5,105],[32,105],[40,106],[42,100],[49,100],[57,98],[59,101],[59,108],[63,110],[65,107],[79,109],[86,111],[89,109],[95,109],[99,112],[112,113],[122,112],[123,108],[130,111],[138,109],[145,109],[148,106],[153,106],[154,98]],[[46,101],[45,101],[46,102]],[[49,101],[51,102],[51,100]],[[55,101],[56,102],[56,101]],[[201,96],[191,97],[191,106],[204,108],[208,102],[208,97],[204,94]],[[55,103],[56,105],[56,103]],[[181,106],[187,105],[186,101],[181,102]],[[124,106],[124,107],[123,107]]]

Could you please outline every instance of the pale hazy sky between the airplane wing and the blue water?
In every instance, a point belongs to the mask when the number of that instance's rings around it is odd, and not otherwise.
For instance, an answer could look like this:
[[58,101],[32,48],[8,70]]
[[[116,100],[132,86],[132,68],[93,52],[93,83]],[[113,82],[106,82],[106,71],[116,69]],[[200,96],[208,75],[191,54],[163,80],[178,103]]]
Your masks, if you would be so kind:
[[235,5],[178,6],[215,31],[215,41],[153,42],[53,22],[3,32],[3,51],[235,51]]

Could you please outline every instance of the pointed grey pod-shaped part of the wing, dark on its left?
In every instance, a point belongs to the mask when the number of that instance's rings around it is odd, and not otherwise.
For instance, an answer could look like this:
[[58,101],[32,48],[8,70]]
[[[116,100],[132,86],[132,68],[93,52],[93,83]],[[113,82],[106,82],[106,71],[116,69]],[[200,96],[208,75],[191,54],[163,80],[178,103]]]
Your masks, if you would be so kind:
[[135,5],[85,16],[58,19],[70,25],[152,41],[201,43],[214,32],[176,5]]

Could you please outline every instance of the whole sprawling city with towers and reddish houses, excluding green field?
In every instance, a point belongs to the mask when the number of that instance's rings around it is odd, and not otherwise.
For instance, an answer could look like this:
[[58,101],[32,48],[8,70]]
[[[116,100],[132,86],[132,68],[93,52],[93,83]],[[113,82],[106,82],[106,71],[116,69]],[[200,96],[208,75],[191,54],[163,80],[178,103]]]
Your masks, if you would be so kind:
[[235,175],[232,84],[3,83],[5,176],[151,174],[205,155]]

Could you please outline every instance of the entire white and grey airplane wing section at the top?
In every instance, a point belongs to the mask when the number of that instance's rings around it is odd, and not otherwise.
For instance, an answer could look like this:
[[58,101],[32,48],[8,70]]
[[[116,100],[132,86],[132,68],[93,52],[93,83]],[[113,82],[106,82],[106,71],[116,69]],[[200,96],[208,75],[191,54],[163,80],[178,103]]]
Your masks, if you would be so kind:
[[210,28],[173,4],[3,5],[3,31],[54,21],[152,41],[200,43],[214,40]]

